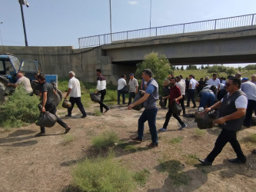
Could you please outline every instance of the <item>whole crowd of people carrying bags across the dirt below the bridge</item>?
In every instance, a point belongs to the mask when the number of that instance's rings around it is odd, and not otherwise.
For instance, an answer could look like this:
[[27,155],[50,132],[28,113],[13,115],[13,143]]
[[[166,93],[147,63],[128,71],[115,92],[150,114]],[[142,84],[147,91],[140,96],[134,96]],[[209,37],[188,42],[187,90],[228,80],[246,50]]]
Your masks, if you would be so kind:
[[[101,70],[97,69],[97,88],[95,94],[101,94],[101,100],[99,101],[101,113],[103,113],[103,108],[105,112],[109,110],[108,106],[103,103],[105,94],[106,94],[106,79],[101,74]],[[71,111],[75,104],[78,105],[79,110],[81,111],[81,118],[85,118],[86,112],[83,104],[81,103],[81,88],[80,83],[77,78],[75,78],[75,72],[69,71],[69,81],[68,81],[68,93],[65,96],[65,99],[69,96],[69,101],[71,102],[71,108],[68,108],[68,114],[66,117],[71,117]],[[173,74],[166,79],[164,86],[167,87],[165,90],[164,97],[162,99],[168,100],[168,112],[165,117],[165,123],[163,127],[157,131],[156,127],[156,116],[158,113],[158,104],[159,99],[158,95],[158,82],[155,81],[153,73],[150,69],[145,69],[142,72],[141,89],[138,90],[138,81],[134,77],[134,74],[129,75],[128,82],[128,91],[129,91],[129,101],[128,101],[128,110],[135,107],[138,104],[143,103],[145,110],[142,112],[140,118],[138,119],[138,136],[131,137],[133,141],[141,142],[143,141],[145,121],[148,121],[149,131],[151,133],[151,143],[147,144],[148,147],[158,147],[158,131],[166,131],[168,127],[168,122],[170,121],[171,114],[178,120],[181,124],[179,130],[182,130],[184,127],[187,127],[185,122],[181,121],[181,118],[178,114],[175,114],[171,105],[173,102],[178,102],[181,104],[183,114],[185,114],[185,97],[187,95],[187,105],[189,107],[190,100],[192,101],[193,108],[196,108],[194,101],[195,91],[198,91],[198,97],[200,98],[199,108],[204,108],[204,113],[208,113],[212,110],[219,111],[219,117],[215,121],[215,124],[219,124],[222,127],[221,134],[219,134],[217,141],[215,142],[214,149],[210,154],[204,159],[199,159],[203,165],[211,165],[221,153],[223,147],[228,142],[234,148],[237,157],[229,160],[229,162],[234,164],[244,164],[246,162],[246,157],[244,156],[241,146],[237,140],[237,131],[241,130],[242,125],[246,127],[251,126],[251,116],[256,113],[256,75],[251,76],[251,81],[248,78],[241,78],[241,75],[236,74],[234,77],[228,77],[226,81],[224,78],[218,79],[217,74],[213,74],[212,78],[204,78],[204,81],[196,81],[194,75],[189,75],[188,79],[184,80],[181,75],[175,77]],[[26,82],[22,74],[18,74],[18,81],[16,84],[20,84],[20,81]],[[52,114],[55,114],[57,117],[58,124],[61,124],[65,128],[65,134],[70,131],[71,127],[68,124],[65,124],[58,116],[56,115],[56,105],[54,101],[55,89],[52,84],[49,84],[45,81],[45,76],[39,74],[38,82],[41,84],[40,95],[42,96],[42,113],[49,111]],[[125,104],[125,95],[121,91],[126,84],[126,76],[123,74],[118,80],[118,104],[120,104],[120,96],[122,94],[123,101],[122,104]],[[8,84],[9,86],[15,86],[15,84]],[[24,86],[27,88],[27,86]],[[223,91],[222,91],[223,90]],[[141,91],[143,92],[143,97],[138,101],[131,103],[131,99],[135,97],[135,94]],[[31,90],[28,89],[28,94]],[[218,94],[221,94],[218,95]],[[218,97],[219,96],[219,97]],[[165,105],[166,106],[166,105]],[[45,127],[41,127],[41,132],[35,136],[44,136]]]

